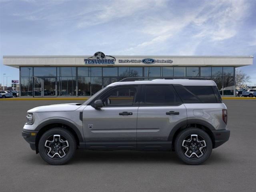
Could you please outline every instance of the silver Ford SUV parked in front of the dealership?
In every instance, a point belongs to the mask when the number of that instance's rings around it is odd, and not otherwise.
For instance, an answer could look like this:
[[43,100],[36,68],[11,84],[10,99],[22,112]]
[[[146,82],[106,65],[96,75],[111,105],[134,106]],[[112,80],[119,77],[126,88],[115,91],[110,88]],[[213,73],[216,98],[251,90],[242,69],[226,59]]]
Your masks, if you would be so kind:
[[212,80],[115,82],[83,104],[28,110],[22,136],[49,164],[86,150],[175,151],[200,164],[229,139],[227,108]]

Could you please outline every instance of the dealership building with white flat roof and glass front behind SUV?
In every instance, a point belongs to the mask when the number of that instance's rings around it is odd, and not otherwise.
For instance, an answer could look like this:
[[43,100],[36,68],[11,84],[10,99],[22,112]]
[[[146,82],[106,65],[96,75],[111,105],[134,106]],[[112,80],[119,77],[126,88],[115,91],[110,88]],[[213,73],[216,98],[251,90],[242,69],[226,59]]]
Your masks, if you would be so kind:
[[126,77],[214,80],[222,96],[235,96],[235,68],[252,56],[4,56],[20,70],[21,97],[91,96]]

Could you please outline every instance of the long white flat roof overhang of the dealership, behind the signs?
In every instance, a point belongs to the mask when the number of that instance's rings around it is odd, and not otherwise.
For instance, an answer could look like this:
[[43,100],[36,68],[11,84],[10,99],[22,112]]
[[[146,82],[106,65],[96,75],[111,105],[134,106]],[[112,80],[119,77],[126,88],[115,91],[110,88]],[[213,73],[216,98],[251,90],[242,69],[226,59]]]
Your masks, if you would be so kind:
[[[114,64],[85,64],[92,56],[3,56],[6,66],[247,66],[253,56],[112,56]],[[145,64],[144,59],[152,59]],[[132,62],[135,61],[135,62]]]

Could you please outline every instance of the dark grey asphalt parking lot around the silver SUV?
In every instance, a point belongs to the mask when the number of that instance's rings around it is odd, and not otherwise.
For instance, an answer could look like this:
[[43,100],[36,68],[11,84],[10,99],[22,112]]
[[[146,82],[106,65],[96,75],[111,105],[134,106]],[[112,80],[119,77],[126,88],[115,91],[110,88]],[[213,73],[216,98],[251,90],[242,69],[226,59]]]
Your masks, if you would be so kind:
[[0,191],[255,191],[256,100],[224,100],[230,140],[202,165],[188,166],[174,152],[77,151],[51,166],[30,149],[21,131],[26,111],[80,100],[0,100]]

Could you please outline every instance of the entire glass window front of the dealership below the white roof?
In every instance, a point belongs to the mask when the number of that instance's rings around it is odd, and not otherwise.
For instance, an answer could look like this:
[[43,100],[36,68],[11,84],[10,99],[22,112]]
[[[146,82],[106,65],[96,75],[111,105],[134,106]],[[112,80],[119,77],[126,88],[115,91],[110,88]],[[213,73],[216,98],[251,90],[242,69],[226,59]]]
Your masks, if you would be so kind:
[[[76,74],[76,70],[78,74]],[[44,79],[38,85],[42,96],[55,96],[57,81],[58,96],[90,96],[102,87],[126,77],[176,76],[197,77],[214,80],[220,94],[234,95],[234,67],[20,67],[20,95],[33,96],[35,78]],[[34,72],[34,74],[33,74]],[[223,72],[223,73],[222,73]],[[56,76],[57,75],[57,76]],[[103,75],[103,76],[102,76]],[[34,76],[34,80],[33,80]],[[78,81],[78,82],[76,82]],[[36,83],[36,82],[35,82]],[[78,90],[76,90],[78,86]],[[45,92],[47,90],[47,92]],[[35,90],[38,91],[38,90]],[[36,96],[34,94],[34,96]],[[40,95],[39,95],[40,96]]]

